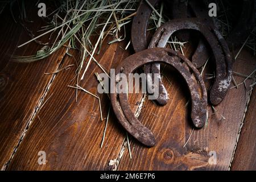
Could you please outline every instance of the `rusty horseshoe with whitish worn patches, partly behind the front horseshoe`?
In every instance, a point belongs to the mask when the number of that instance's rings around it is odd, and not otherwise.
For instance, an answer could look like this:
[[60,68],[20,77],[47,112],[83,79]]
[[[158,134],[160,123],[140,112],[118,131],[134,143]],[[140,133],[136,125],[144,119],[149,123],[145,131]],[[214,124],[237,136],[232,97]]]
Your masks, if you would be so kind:
[[[218,30],[212,25],[206,25],[198,18],[175,19],[164,23],[151,39],[150,48],[165,47],[170,36],[177,30],[190,29],[200,31],[210,45],[216,61],[216,78],[210,89],[210,102],[218,105],[224,99],[232,80],[233,57],[228,45]],[[159,63],[148,64],[146,70],[159,68]]]

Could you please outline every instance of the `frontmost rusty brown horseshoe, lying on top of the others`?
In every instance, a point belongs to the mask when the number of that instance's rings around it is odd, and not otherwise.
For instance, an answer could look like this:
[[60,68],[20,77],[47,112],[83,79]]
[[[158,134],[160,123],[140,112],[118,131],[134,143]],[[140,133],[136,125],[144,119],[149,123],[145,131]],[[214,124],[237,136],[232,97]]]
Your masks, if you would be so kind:
[[[118,73],[124,73],[127,77],[135,69],[148,63],[165,63],[174,67],[183,76],[188,84],[192,98],[191,118],[197,128],[204,126],[207,119],[207,90],[199,71],[186,57],[167,48],[149,48],[127,57],[115,69],[115,82],[120,81]],[[113,75],[111,76],[113,78]],[[125,82],[124,88],[127,88]],[[127,93],[110,94],[112,106],[119,123],[134,138],[148,147],[155,145],[156,140],[150,130],[147,129],[135,117],[127,101]]]

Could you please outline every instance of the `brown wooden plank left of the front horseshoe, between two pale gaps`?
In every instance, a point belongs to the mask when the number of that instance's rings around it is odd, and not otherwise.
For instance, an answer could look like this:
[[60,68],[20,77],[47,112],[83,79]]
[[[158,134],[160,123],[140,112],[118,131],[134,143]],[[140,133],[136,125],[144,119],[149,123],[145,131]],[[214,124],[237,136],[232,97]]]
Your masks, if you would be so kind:
[[[130,51],[124,51],[127,42],[107,44],[101,47],[100,55],[96,55],[99,63],[109,71],[125,57]],[[78,52],[71,52],[78,56]],[[66,57],[63,67],[73,64],[71,57]],[[48,96],[52,96],[39,112],[28,130],[26,137],[18,148],[14,159],[8,169],[10,170],[93,170],[109,169],[109,161],[118,156],[120,146],[126,137],[125,131],[117,122],[113,112],[110,113],[106,130],[104,147],[100,148],[102,134],[105,127],[105,119],[100,120],[98,100],[91,95],[68,88],[75,85],[73,79],[76,68],[59,72],[56,75]],[[85,73],[84,80],[79,85],[97,93],[98,81],[94,73],[101,73],[101,69],[95,63],[91,63]],[[100,95],[102,114],[106,118],[110,101],[105,94]],[[136,109],[139,101],[138,94],[131,97],[129,102]],[[46,165],[38,164],[38,152],[46,152]]]

